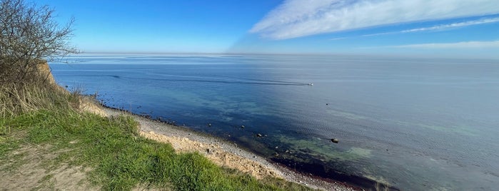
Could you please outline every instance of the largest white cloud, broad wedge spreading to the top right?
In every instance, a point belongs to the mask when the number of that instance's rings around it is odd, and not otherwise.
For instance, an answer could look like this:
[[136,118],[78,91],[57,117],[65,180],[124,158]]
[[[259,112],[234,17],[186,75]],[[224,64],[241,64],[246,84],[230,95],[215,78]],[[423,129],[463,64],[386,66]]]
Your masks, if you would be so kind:
[[286,39],[410,21],[497,13],[497,0],[286,0],[250,32]]

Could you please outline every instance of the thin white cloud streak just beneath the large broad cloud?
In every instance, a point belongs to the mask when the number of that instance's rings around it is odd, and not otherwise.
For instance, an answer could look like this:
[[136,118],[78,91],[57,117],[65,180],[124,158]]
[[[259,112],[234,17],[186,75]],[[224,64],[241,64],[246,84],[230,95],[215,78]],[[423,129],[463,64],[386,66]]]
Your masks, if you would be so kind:
[[373,34],[366,34],[363,36],[380,36],[380,35],[385,35],[385,34],[414,33],[414,32],[422,32],[422,31],[442,31],[442,30],[455,29],[455,28],[464,27],[464,26],[473,26],[473,25],[478,25],[478,24],[490,24],[490,23],[495,23],[495,22],[499,22],[499,17],[483,18],[483,19],[477,19],[477,20],[472,20],[472,21],[463,21],[463,22],[458,22],[458,23],[453,23],[453,24],[441,24],[441,25],[437,25],[437,26],[423,27],[423,28],[418,28],[418,29],[408,29],[408,30],[388,32],[388,33],[373,33]]

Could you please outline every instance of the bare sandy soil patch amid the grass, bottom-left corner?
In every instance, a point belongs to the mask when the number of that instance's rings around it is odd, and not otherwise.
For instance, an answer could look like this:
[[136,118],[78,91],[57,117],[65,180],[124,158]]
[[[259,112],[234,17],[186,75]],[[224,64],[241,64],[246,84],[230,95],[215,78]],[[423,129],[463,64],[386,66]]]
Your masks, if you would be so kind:
[[2,161],[0,164],[0,190],[99,190],[86,179],[89,169],[59,165],[49,169],[58,153],[48,145],[29,145],[15,150],[21,160]]

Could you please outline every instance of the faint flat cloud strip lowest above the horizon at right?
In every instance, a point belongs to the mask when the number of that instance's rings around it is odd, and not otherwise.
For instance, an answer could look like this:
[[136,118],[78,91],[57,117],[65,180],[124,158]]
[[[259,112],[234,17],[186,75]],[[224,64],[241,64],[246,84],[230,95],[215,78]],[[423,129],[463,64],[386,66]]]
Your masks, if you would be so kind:
[[[450,48],[499,48],[499,41],[465,41],[457,43],[418,43],[400,46],[385,46],[388,48],[433,48],[433,49],[450,49]],[[379,48],[379,47],[378,47]]]

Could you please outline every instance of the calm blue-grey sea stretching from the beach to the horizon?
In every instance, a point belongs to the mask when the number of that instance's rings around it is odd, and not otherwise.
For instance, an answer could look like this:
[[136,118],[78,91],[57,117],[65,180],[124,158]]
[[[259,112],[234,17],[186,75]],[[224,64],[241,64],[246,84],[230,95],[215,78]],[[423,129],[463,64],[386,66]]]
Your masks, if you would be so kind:
[[97,92],[111,107],[217,135],[296,170],[367,177],[401,190],[499,189],[499,61],[67,59],[51,68],[70,90]]

